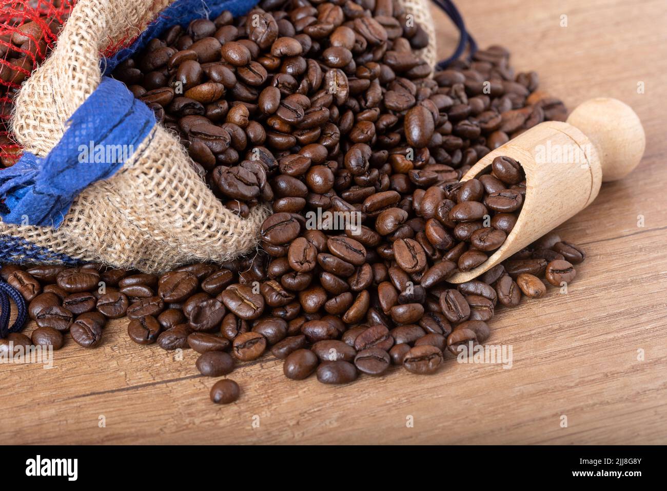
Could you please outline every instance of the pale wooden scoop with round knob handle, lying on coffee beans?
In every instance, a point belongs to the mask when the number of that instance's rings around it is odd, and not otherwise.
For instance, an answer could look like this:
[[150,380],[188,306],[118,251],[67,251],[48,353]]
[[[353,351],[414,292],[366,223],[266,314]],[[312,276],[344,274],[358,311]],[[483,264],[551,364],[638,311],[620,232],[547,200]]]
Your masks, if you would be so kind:
[[548,121],[496,148],[462,181],[490,172],[498,156],[517,160],[526,172],[526,197],[512,232],[482,265],[456,273],[470,281],[528,246],[591,204],[600,184],[625,177],[644,154],[646,136],[635,112],[616,99],[591,99],[567,122]]

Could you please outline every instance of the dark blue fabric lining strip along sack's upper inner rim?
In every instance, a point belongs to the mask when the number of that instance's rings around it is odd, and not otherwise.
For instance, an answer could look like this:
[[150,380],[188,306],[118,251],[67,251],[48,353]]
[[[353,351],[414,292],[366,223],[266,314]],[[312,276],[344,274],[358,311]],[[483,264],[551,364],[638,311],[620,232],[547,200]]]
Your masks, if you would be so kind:
[[259,0],[177,0],[161,11],[157,19],[151,22],[131,45],[120,49],[111,57],[102,58],[100,62],[102,71],[105,75],[109,75],[119,63],[143,49],[151,39],[174,25],[185,27],[190,21],[202,17],[215,19],[225,10],[230,11],[234,17],[244,15],[257,3]]

